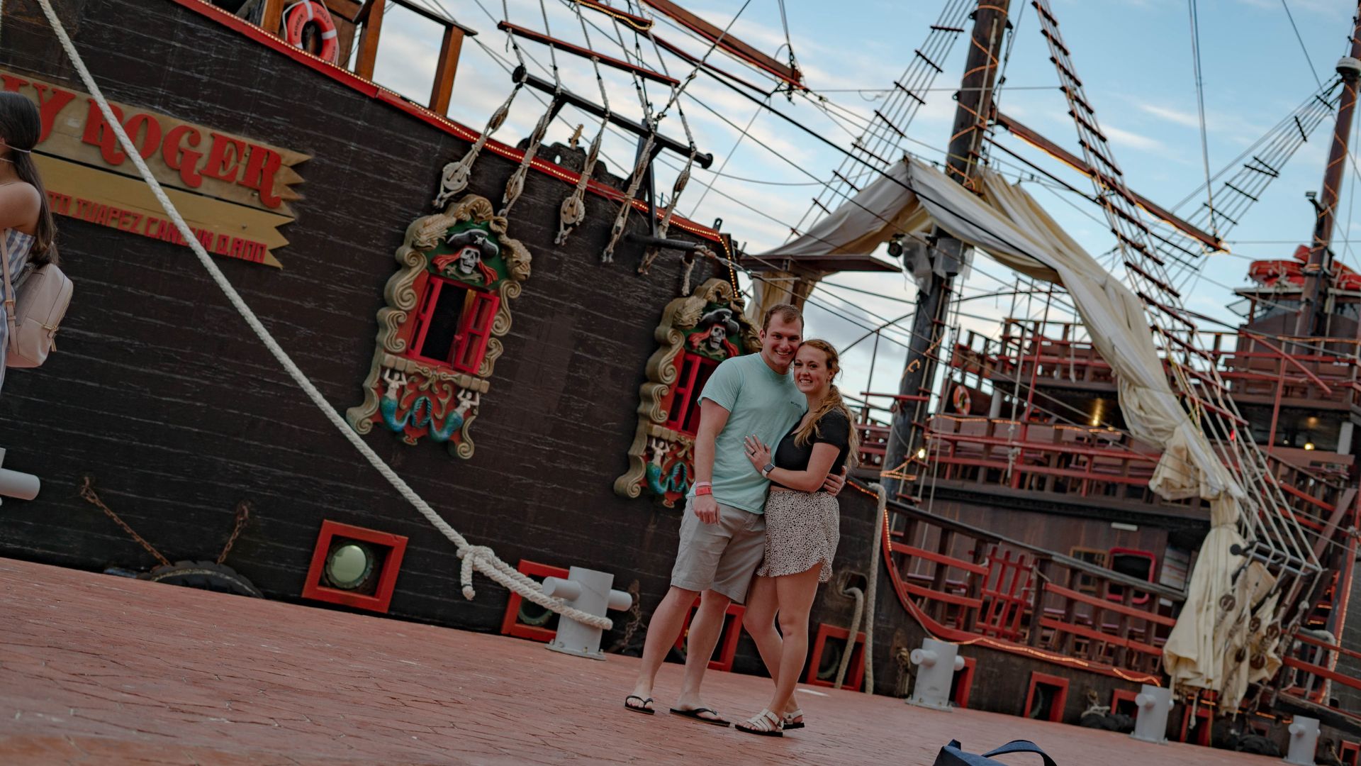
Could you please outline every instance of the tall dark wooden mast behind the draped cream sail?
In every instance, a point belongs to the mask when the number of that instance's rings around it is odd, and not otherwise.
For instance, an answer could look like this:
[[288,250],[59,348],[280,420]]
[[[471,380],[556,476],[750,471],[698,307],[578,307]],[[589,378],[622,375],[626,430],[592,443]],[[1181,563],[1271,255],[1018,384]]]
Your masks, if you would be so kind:
[[[992,89],[998,78],[1002,41],[1010,26],[1009,5],[1010,0],[979,0],[973,11],[973,40],[969,44],[964,78],[957,94],[960,106],[954,113],[946,165],[946,173],[965,185],[970,185],[977,176],[984,131],[992,112]],[[939,70],[935,61],[928,63]],[[946,333],[945,319],[950,307],[951,284],[964,262],[964,243],[939,229],[936,237],[935,247],[928,251],[932,262],[930,285],[917,293],[908,361],[898,386],[900,399],[885,455],[886,469],[902,466],[921,443],[931,398],[931,379],[936,369],[934,358],[943,353],[939,345]],[[896,497],[901,480],[886,476],[883,484],[889,497]]]

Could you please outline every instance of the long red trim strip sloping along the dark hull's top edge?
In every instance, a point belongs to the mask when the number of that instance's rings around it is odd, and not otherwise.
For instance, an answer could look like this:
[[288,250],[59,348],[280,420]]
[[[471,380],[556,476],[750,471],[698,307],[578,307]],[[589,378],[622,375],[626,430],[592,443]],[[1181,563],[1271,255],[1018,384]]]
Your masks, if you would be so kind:
[[[265,48],[272,48],[274,50],[276,50],[279,53],[283,53],[284,56],[293,59],[294,61],[298,61],[299,64],[302,64],[302,65],[305,65],[305,67],[308,67],[310,70],[321,72],[323,75],[327,75],[331,79],[333,79],[333,80],[336,80],[336,82],[339,82],[342,85],[352,87],[354,90],[357,90],[357,91],[359,91],[359,93],[362,93],[362,94],[365,94],[365,95],[367,95],[370,98],[376,98],[378,101],[382,101],[384,104],[388,104],[388,105],[391,105],[391,106],[393,106],[393,108],[396,108],[396,109],[399,109],[401,112],[406,112],[407,114],[411,114],[412,117],[415,117],[418,120],[422,120],[422,121],[425,121],[425,123],[427,123],[430,125],[434,125],[436,128],[440,128],[440,129],[442,129],[442,131],[445,131],[448,134],[452,134],[452,135],[455,135],[455,136],[457,136],[457,138],[460,138],[463,140],[474,142],[479,136],[479,134],[476,131],[468,128],[467,125],[463,125],[460,123],[455,123],[453,120],[450,120],[448,117],[444,117],[441,114],[436,114],[434,112],[426,109],[425,106],[421,106],[418,104],[407,101],[406,98],[397,95],[396,93],[392,93],[391,90],[388,90],[388,89],[385,89],[385,87],[382,87],[382,86],[380,86],[380,85],[377,85],[374,82],[366,80],[366,79],[355,75],[354,72],[351,72],[348,70],[338,67],[336,64],[332,64],[329,61],[324,61],[324,60],[313,56],[312,53],[308,53],[306,50],[299,50],[299,49],[289,45],[287,42],[284,42],[283,40],[279,40],[278,37],[267,33],[265,30],[263,30],[263,29],[260,29],[260,27],[257,27],[257,26],[255,26],[252,23],[244,22],[244,20],[235,18],[234,15],[223,11],[222,8],[218,8],[215,5],[210,5],[204,0],[170,0],[170,1],[176,3],[178,5],[182,5],[184,8],[188,8],[191,11],[195,11],[197,14],[201,14],[201,15],[204,15],[204,16],[207,16],[207,18],[218,22],[218,23],[222,23],[222,25],[225,25],[225,26],[227,26],[227,27],[230,27],[230,29],[233,29],[233,30],[244,34],[245,37],[248,37],[248,38],[250,38],[250,40],[253,40],[253,41],[264,45]],[[499,154],[501,157],[505,157],[506,159],[509,159],[512,162],[521,162],[524,159],[524,151],[521,151],[519,149],[514,149],[512,146],[506,146],[506,144],[504,144],[504,143],[501,143],[501,142],[498,142],[495,139],[489,139],[487,143],[486,143],[486,149],[487,149],[487,151],[491,151],[493,154]],[[535,157],[535,159],[531,164],[531,166],[535,170],[539,170],[540,173],[546,173],[548,176],[553,176],[553,177],[555,177],[555,179],[558,179],[558,180],[561,180],[561,181],[563,181],[563,183],[566,183],[569,185],[570,184],[576,184],[577,180],[581,177],[580,173],[569,170],[569,169],[566,169],[566,168],[563,168],[561,165],[554,165],[551,162],[544,162],[543,159],[539,159],[538,157]],[[623,200],[623,192],[621,192],[619,189],[610,188],[610,187],[607,187],[604,184],[600,184],[597,181],[593,181],[593,180],[587,181],[587,191],[589,191],[589,192],[592,192],[592,194],[595,194],[597,196],[603,196],[606,199],[614,200],[614,202]],[[648,206],[645,203],[642,203],[642,200],[634,199],[633,200],[633,209],[638,210],[638,211],[642,211],[642,213],[646,213]],[[666,214],[664,210],[660,210],[660,209],[657,210],[657,218],[659,219],[664,214]],[[685,232],[687,232],[690,234],[694,234],[697,237],[709,240],[712,243],[723,244],[723,239],[719,236],[719,232],[716,232],[715,229],[710,229],[709,226],[704,226],[704,225],[695,224],[694,221],[690,221],[689,218],[683,218],[680,215],[676,215],[676,217],[674,217],[671,219],[671,225],[676,226],[678,229],[682,229],[682,230],[685,230]]]

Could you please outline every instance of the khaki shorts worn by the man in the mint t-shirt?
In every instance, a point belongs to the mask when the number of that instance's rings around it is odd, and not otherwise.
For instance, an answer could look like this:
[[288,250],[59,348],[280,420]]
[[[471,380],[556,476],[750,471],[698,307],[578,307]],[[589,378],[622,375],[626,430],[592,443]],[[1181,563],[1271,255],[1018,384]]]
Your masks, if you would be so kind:
[[764,515],[719,503],[719,523],[704,523],[687,506],[671,585],[713,590],[740,604],[764,555]]

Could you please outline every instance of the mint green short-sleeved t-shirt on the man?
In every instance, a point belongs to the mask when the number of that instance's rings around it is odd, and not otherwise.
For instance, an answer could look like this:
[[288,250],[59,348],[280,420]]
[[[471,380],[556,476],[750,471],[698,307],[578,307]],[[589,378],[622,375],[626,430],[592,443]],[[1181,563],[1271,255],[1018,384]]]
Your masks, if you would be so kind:
[[746,354],[719,364],[700,399],[728,410],[728,423],[715,444],[713,499],[753,514],[765,512],[770,481],[751,468],[743,440],[755,435],[774,450],[803,417],[807,398],[792,375],[770,369],[761,354]]

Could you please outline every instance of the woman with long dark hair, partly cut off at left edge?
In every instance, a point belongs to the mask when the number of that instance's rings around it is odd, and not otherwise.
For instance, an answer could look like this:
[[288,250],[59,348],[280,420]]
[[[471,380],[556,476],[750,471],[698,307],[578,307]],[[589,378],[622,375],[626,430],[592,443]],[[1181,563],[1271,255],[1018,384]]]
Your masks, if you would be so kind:
[[[18,285],[27,264],[56,263],[52,245],[56,225],[48,209],[48,194],[33,164],[42,123],[38,108],[18,93],[0,93],[0,244],[10,260],[10,278]],[[4,292],[0,282],[0,293]],[[11,296],[4,296],[11,297]],[[10,324],[0,304],[0,384],[10,352]]]

